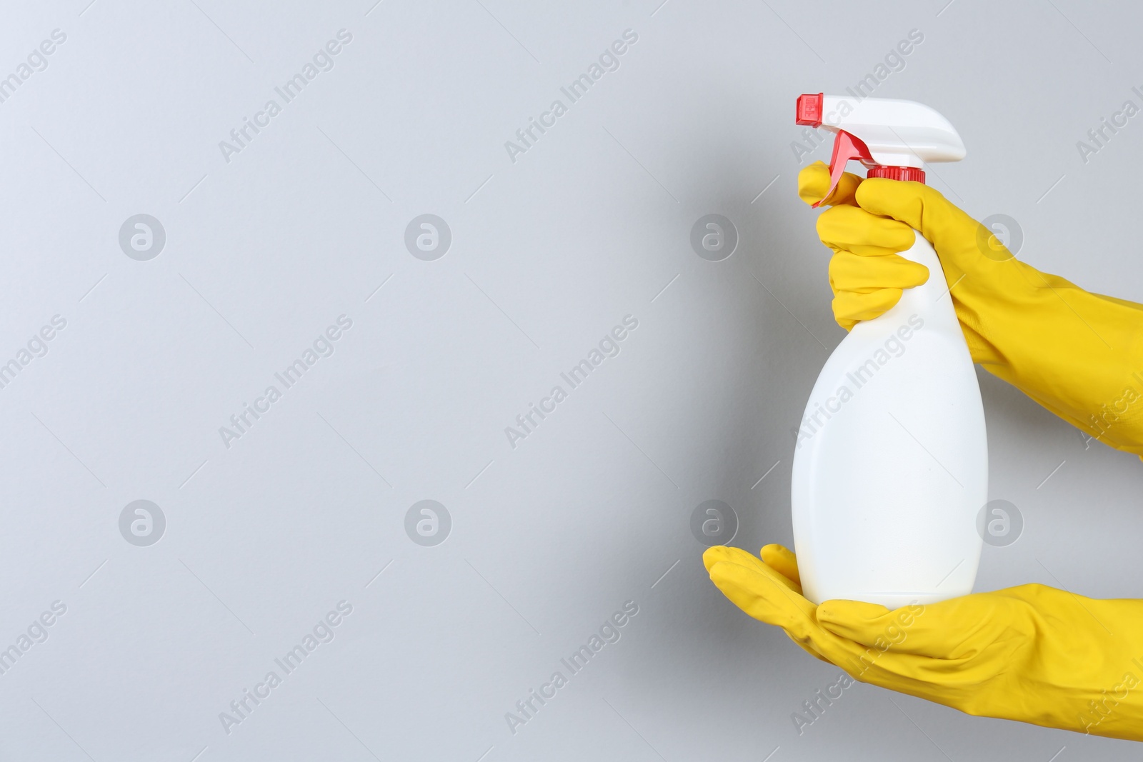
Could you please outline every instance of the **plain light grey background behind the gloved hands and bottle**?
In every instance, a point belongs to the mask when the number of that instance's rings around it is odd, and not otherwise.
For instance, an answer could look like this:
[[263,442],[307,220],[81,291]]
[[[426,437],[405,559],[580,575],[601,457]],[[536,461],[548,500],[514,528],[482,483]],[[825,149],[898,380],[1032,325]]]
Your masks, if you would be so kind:
[[[1140,103],[1141,13],[661,2],[5,6],[0,77],[66,42],[0,103],[0,362],[67,326],[0,390],[0,648],[67,610],[0,675],[0,759],[1138,755],[869,685],[799,736],[791,713],[840,671],[725,600],[689,521],[725,500],[735,545],[792,543],[790,432],[844,336],[794,194],[829,145],[796,159],[796,96],[920,30],[876,95],[960,130],[968,158],[932,184],[1018,220],[1036,266],[1143,299],[1143,117],[1086,163],[1076,146]],[[334,69],[226,162],[219,141],[342,29]],[[620,69],[513,162],[505,141],[628,29]],[[166,231],[147,262],[119,247],[136,214]],[[451,230],[433,262],[403,243],[423,214]],[[708,214],[740,235],[721,262],[689,244]],[[335,354],[224,447],[342,314]],[[629,314],[622,352],[510,447]],[[981,386],[991,497],[1025,529],[985,547],[977,588],[1143,595],[1137,458]],[[137,499],[167,522],[146,547],[119,531]],[[432,547],[405,532],[425,499],[453,522]],[[225,732],[342,600],[333,642]],[[513,735],[505,713],[629,600],[622,639]]]

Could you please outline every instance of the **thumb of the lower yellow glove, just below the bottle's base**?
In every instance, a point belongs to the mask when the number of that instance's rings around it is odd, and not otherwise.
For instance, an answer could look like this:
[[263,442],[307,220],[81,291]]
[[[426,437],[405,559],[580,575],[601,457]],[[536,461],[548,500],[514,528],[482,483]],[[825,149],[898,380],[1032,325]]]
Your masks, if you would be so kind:
[[980,595],[966,595],[890,611],[861,601],[823,601],[817,607],[817,620],[829,632],[870,648],[964,659],[994,640],[991,635],[980,636],[985,620],[992,618],[984,603]]

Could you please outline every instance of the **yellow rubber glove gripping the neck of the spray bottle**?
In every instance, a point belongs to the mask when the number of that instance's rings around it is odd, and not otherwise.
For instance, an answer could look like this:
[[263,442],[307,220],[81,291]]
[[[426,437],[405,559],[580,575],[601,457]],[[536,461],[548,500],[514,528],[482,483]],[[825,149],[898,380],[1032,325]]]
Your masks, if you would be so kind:
[[[816,162],[807,203],[829,190]],[[817,233],[830,249],[833,314],[847,330],[889,310],[928,268],[897,256],[916,228],[936,249],[973,361],[1093,438],[1143,456],[1143,305],[1090,294],[1018,262],[988,228],[921,183],[850,174]]]

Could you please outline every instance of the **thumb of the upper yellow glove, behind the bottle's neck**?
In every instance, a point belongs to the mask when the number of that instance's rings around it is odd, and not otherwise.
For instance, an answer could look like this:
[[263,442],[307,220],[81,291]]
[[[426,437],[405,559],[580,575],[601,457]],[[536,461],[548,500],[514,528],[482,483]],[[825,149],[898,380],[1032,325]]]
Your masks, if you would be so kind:
[[[854,191],[854,198],[866,211],[893,217],[919,230],[940,252],[942,262],[949,257],[962,272],[1012,258],[1007,249],[988,238],[991,233],[986,228],[940,191],[922,183],[874,177],[862,183]],[[982,251],[984,242],[991,248],[988,256]],[[948,266],[945,271],[948,276]]]

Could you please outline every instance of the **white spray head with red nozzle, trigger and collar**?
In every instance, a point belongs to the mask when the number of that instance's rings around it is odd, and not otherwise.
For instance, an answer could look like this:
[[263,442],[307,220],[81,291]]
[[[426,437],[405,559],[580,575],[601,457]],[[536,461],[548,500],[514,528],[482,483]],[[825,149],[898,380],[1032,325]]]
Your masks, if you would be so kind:
[[926,162],[965,158],[965,144],[949,120],[913,101],[802,95],[798,98],[797,121],[837,135],[826,196],[837,187],[850,159],[865,165],[870,177],[924,183],[921,168]]

